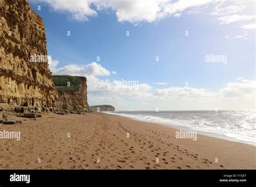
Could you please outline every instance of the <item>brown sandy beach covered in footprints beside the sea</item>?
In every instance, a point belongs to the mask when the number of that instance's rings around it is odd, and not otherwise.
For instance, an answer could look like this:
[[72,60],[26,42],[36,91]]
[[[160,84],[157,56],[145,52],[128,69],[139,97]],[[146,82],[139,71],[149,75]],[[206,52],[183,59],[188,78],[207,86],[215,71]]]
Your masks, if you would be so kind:
[[0,169],[256,169],[255,146],[176,139],[177,129],[105,113],[43,113],[3,130],[21,140],[0,139]]

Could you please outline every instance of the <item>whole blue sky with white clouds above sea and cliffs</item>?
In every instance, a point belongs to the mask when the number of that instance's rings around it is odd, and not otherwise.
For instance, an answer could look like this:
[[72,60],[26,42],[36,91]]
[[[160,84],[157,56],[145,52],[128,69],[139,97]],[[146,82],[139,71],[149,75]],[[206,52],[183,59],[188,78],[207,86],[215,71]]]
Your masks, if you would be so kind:
[[52,75],[117,111],[254,110],[255,1],[29,0]]

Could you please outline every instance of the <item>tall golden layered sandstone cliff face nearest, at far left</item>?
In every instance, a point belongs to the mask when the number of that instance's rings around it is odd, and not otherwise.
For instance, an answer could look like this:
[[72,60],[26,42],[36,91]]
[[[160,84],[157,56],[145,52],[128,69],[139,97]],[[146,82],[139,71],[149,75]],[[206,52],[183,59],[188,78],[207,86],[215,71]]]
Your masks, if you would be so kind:
[[0,107],[58,107],[44,23],[27,0],[0,0],[0,38]]

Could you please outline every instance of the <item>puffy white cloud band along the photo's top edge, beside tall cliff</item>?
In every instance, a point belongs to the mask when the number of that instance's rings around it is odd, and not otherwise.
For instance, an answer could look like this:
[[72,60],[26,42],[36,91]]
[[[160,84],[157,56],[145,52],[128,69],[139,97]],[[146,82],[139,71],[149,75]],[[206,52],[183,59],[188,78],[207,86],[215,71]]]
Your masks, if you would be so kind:
[[179,0],[172,3],[171,0],[148,0],[148,1],[119,1],[119,0],[33,0],[48,4],[52,10],[68,12],[72,19],[88,20],[88,17],[97,16],[93,6],[99,6],[100,10],[113,10],[116,12],[118,21],[129,21],[137,24],[140,21],[149,23],[168,17],[179,17],[181,12],[190,8],[204,6],[213,0]]

